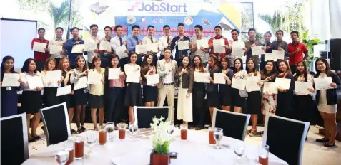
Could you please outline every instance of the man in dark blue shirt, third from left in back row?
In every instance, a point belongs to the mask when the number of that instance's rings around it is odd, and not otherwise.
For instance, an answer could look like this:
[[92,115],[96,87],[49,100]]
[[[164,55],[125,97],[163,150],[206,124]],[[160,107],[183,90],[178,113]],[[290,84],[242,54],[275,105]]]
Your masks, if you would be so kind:
[[[72,36],[74,36],[74,38],[71,38],[69,40],[67,40],[65,43],[64,43],[64,46],[63,48],[67,51],[67,56],[70,60],[70,66],[71,68],[76,68],[76,57],[78,55],[83,55],[83,53],[71,53],[72,52],[72,47],[76,44],[84,44],[84,40],[81,40],[79,38],[79,28],[77,27],[74,27],[74,28],[71,28],[71,32],[72,32]],[[84,52],[85,55],[87,55],[86,52]]]

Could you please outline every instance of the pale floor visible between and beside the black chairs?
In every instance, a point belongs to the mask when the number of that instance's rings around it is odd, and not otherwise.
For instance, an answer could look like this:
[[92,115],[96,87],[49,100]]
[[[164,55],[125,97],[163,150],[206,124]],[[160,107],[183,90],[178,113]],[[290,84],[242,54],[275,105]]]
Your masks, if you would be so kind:
[[[29,143],[29,154],[35,154],[39,149],[46,148],[46,137],[44,132],[40,128],[42,124],[39,124],[37,134],[41,136],[41,140],[37,142]],[[76,129],[72,124],[73,129]],[[94,129],[92,124],[85,124],[87,129]],[[249,128],[250,129],[250,128]],[[262,127],[258,127],[258,131],[262,131]],[[202,131],[207,131],[203,129]],[[340,165],[341,164],[341,142],[336,142],[337,147],[327,148],[323,147],[321,143],[315,142],[315,139],[321,138],[320,134],[317,134],[318,128],[315,126],[310,127],[308,133],[308,140],[305,142],[303,149],[303,161],[302,164],[307,165]],[[73,134],[75,136],[75,134]],[[247,136],[245,142],[249,144],[261,144],[262,137],[249,137]]]

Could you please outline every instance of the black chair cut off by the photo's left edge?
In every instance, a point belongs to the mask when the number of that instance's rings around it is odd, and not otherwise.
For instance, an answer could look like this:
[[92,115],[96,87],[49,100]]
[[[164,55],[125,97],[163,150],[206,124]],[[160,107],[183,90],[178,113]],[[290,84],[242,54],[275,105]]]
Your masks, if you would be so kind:
[[29,159],[26,113],[2,117],[1,164],[22,164]]

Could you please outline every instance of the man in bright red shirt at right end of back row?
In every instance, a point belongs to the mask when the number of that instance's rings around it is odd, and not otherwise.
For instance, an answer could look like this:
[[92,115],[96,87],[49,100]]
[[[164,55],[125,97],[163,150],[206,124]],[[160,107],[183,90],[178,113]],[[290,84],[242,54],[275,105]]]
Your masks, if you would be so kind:
[[[287,51],[289,54],[289,65],[292,73],[296,73],[296,65],[298,60],[305,60],[309,57],[307,47],[304,43],[298,41],[298,31],[292,31],[290,33],[292,43],[287,45]],[[303,57],[305,53],[305,57]]]

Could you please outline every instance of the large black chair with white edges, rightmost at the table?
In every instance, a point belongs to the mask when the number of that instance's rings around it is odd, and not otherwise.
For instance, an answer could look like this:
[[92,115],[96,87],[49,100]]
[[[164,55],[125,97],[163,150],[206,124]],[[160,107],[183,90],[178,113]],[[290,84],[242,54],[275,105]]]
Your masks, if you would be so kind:
[[302,164],[309,126],[309,122],[266,115],[263,144],[269,145],[269,151],[288,164]]

